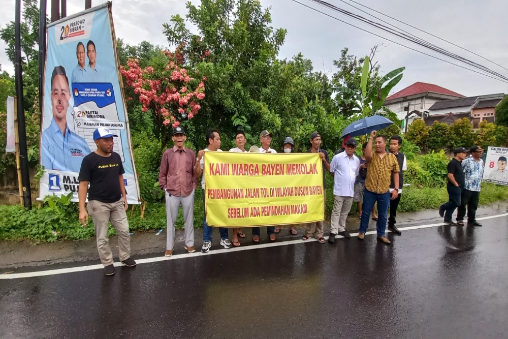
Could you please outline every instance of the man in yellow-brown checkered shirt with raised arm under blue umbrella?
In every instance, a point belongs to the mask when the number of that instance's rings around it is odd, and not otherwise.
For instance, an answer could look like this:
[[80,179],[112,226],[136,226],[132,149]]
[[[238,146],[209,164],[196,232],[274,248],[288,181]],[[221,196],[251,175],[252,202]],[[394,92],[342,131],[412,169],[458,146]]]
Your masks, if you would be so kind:
[[[372,151],[374,137],[375,151]],[[370,133],[369,142],[365,148],[365,159],[367,160],[367,177],[358,239],[364,239],[369,227],[370,211],[377,202],[377,239],[390,244],[390,240],[385,236],[388,207],[390,200],[396,199],[398,195],[397,190],[390,193],[390,179],[393,177],[395,187],[399,187],[399,164],[397,158],[386,151],[386,137],[376,135],[376,131]]]

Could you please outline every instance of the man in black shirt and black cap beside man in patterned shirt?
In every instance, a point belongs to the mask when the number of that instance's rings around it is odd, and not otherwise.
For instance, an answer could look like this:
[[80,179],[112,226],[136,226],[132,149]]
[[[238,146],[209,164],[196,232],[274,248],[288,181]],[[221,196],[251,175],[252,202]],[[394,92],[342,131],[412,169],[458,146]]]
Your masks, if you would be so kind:
[[464,171],[460,163],[466,159],[467,151],[468,149],[464,147],[457,147],[453,151],[454,157],[448,163],[447,191],[449,200],[439,206],[439,216],[444,217],[444,222],[452,226],[459,225],[452,220],[452,214],[461,204],[460,195],[464,188]]

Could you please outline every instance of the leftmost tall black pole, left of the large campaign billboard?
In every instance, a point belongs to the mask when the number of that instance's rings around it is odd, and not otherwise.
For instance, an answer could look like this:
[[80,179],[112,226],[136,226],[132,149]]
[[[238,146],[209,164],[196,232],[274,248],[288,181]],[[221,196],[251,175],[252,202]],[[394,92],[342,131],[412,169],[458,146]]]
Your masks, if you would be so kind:
[[16,105],[18,117],[19,160],[21,183],[23,185],[23,204],[31,208],[30,173],[28,172],[28,150],[26,147],[25,110],[23,107],[23,70],[21,69],[21,0],[16,0],[14,18],[14,75],[16,78]]

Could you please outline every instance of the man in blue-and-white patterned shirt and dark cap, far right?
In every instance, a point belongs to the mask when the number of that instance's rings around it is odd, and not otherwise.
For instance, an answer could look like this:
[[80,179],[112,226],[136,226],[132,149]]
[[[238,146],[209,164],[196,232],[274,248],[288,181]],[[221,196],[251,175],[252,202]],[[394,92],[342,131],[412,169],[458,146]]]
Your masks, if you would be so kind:
[[467,225],[482,226],[475,218],[478,201],[480,200],[480,189],[484,168],[482,155],[484,149],[480,146],[472,146],[470,151],[471,157],[461,163],[462,170],[464,171],[464,189],[460,196],[461,204],[457,210],[457,224],[461,226],[464,225],[464,216],[466,215],[467,206]]

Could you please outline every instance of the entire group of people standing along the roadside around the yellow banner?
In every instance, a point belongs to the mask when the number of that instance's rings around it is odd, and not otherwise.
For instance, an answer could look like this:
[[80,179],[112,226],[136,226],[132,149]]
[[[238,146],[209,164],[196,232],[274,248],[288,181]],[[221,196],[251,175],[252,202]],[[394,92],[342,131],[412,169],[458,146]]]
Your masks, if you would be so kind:
[[[105,266],[105,274],[114,274],[112,252],[108,242],[108,224],[111,222],[119,235],[119,255],[123,264],[129,267],[136,265],[130,257],[129,225],[126,218],[126,193],[123,184],[123,167],[118,154],[113,152],[113,137],[106,128],[99,128],[93,134],[97,144],[97,150],[87,155],[82,162],[79,180],[79,207],[80,221],[85,226],[90,213],[97,235],[97,247],[101,262]],[[180,206],[183,210],[185,228],[184,248],[189,253],[196,251],[194,246],[194,195],[201,176],[201,188],[203,202],[205,199],[204,178],[204,155],[205,151],[221,151],[220,136],[217,130],[209,130],[206,133],[207,148],[196,153],[185,147],[187,139],[182,127],[173,129],[172,140],[174,146],[164,152],[159,172],[159,184],[165,193],[166,216],[167,216],[167,239],[165,256],[173,255],[175,244],[175,223]],[[263,131],[260,134],[261,147],[255,146],[261,153],[276,153],[270,148],[272,134]],[[237,131],[235,142],[237,147],[230,152],[247,152],[245,149],[245,134]],[[397,207],[402,194],[403,171],[407,168],[406,157],[400,152],[402,138],[394,135],[389,140],[390,150],[387,150],[387,139],[384,135],[371,132],[368,142],[362,146],[361,158],[355,155],[357,141],[348,138],[344,142],[343,150],[337,152],[329,161],[328,153],[321,148],[321,135],[313,132],[310,135],[310,153],[319,153],[323,162],[323,183],[326,183],[325,175],[329,172],[334,178],[333,195],[334,206],[331,216],[331,230],[328,241],[335,242],[337,236],[350,238],[345,228],[347,214],[351,210],[354,200],[363,200],[360,230],[358,239],[363,240],[369,226],[371,210],[377,204],[377,239],[385,244],[390,244],[386,237],[386,226],[396,234],[401,232],[395,226]],[[374,148],[372,148],[374,143]],[[285,138],[284,152],[294,150],[292,138]],[[480,146],[471,147],[471,157],[466,159],[464,147],[454,150],[454,158],[448,164],[449,202],[439,207],[439,214],[444,217],[444,222],[450,225],[464,225],[463,219],[466,214],[468,224],[482,226],[475,220],[475,212],[480,197],[480,184],[483,176],[484,164],[481,159],[484,149]],[[88,188],[88,184],[90,187]],[[85,208],[85,200],[88,193],[88,204]],[[459,208],[457,222],[452,221],[452,213]],[[390,216],[388,218],[388,215]],[[280,228],[267,226],[267,234],[271,241],[276,240],[276,233]],[[228,228],[219,227],[220,245],[228,249],[232,246],[240,246],[238,238],[245,238],[241,228],[233,229],[233,243],[228,236]],[[296,235],[296,230],[290,228],[290,232]],[[311,237],[320,243],[325,243],[323,237],[324,223],[316,222],[306,225],[303,240]],[[203,218],[203,245],[202,252],[208,252],[211,248],[213,228],[206,222],[206,209]],[[260,228],[252,228],[252,240],[260,241]]]

